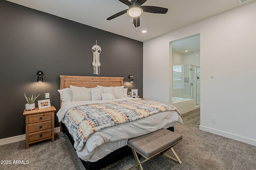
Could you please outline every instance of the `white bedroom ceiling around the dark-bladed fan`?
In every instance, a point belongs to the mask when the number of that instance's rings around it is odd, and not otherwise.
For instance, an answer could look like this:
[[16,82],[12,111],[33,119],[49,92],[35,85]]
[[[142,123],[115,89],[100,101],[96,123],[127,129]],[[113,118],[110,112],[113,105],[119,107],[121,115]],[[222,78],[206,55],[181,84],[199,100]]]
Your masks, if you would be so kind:
[[[128,9],[118,0],[8,0],[22,6],[76,21],[138,41],[146,41],[175,29],[237,8],[254,0],[147,0],[142,6],[168,8],[166,14],[144,12],[140,27],[123,14],[113,20],[106,18]],[[142,33],[146,30],[146,33]]]

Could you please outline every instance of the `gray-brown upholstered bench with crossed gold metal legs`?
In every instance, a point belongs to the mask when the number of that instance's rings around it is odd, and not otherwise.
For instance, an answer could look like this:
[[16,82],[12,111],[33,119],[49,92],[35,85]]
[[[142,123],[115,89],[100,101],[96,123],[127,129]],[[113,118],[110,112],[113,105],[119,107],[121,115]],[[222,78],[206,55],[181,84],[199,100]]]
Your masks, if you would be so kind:
[[[132,166],[130,169],[139,166],[139,169],[143,170],[141,164],[159,153],[164,154],[165,156],[171,158],[172,160],[178,162],[179,164],[182,164],[180,158],[172,148],[181,140],[182,135],[174,133],[167,129],[160,129],[147,135],[128,139],[128,146],[132,149],[132,152],[137,162],[137,164]],[[169,149],[172,150],[172,153],[174,154],[176,159],[165,153]],[[145,160],[140,162],[137,153],[143,156]]]

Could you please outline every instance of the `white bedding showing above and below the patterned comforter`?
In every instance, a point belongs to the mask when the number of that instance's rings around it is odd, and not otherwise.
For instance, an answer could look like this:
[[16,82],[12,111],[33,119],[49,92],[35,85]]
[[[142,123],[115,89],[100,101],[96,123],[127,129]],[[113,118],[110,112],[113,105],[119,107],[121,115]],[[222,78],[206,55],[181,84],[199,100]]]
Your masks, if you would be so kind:
[[[116,100],[120,101],[127,99],[131,100],[133,98],[122,98]],[[62,121],[66,111],[74,106],[106,103],[116,100],[68,102],[62,105],[57,113],[57,117],[59,121]],[[134,98],[133,100],[140,99]],[[166,111],[156,113],[143,119],[138,119],[136,121],[108,127],[92,133],[86,141],[85,147],[81,151],[77,150],[76,152],[78,154],[78,157],[80,157],[82,160],[95,162],[103,158],[110,152],[113,152],[114,150],[127,145],[128,139],[145,135],[158,129],[172,127],[174,126],[174,122],[179,122],[180,124],[183,124],[180,115],[178,115],[176,111]]]

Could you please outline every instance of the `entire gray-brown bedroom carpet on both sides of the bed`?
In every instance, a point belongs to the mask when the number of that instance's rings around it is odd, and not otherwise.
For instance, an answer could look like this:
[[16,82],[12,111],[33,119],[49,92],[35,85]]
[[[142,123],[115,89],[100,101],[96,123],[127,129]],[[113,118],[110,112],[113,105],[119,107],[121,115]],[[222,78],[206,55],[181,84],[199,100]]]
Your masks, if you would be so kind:
[[[174,150],[182,164],[157,155],[144,162],[144,170],[256,170],[256,147],[214,135],[186,125],[175,125],[175,132],[183,135]],[[0,146],[0,160],[12,164],[0,164],[4,170],[84,170],[75,150],[65,134],[55,133],[56,140],[31,144],[25,150],[25,141]],[[168,154],[172,155],[170,151]],[[13,164],[14,160],[28,160],[29,164]],[[136,164],[133,155],[103,168],[103,170],[126,170]],[[138,168],[134,168],[138,169]]]

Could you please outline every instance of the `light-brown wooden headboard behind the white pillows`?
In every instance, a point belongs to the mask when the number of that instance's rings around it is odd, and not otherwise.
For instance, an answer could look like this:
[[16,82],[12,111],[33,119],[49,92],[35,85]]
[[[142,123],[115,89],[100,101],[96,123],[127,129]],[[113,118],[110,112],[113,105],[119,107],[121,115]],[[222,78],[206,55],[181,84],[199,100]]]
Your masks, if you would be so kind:
[[[98,77],[98,76],[60,76],[60,89],[72,86],[93,88],[100,86],[123,86],[123,77]],[[60,101],[61,106],[61,101]]]

